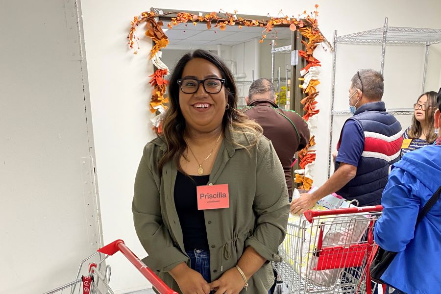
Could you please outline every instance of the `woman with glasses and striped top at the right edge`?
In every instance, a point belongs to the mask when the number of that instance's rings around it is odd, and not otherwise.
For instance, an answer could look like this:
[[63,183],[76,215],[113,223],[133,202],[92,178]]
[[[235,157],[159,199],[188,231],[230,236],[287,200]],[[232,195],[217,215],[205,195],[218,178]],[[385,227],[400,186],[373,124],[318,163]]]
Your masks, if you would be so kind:
[[409,151],[432,145],[437,139],[433,115],[437,105],[437,92],[421,94],[414,104],[412,125],[403,133],[401,156]]

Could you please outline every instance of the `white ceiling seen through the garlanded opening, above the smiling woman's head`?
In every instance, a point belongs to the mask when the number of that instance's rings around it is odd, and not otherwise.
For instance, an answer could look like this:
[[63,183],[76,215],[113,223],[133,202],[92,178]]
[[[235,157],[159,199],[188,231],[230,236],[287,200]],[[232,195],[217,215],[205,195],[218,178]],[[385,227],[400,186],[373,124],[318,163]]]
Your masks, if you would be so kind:
[[[225,30],[212,25],[207,29],[205,23],[194,25],[193,23],[179,24],[172,29],[164,22],[162,29],[166,32],[170,44],[167,49],[192,49],[195,47],[206,47],[207,45],[233,46],[249,41],[253,38],[262,38],[262,27],[245,27],[239,29],[237,25],[227,25]],[[265,41],[275,39],[275,30],[267,34]],[[288,27],[277,28],[277,40],[291,40],[291,30]]]

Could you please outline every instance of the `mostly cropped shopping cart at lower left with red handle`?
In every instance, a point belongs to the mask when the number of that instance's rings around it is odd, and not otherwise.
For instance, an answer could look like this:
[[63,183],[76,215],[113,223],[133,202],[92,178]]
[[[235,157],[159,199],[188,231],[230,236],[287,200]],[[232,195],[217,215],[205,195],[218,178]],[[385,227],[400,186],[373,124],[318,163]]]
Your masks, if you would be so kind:
[[[110,265],[105,265],[105,260],[120,251],[143,274],[144,277],[160,294],[177,294],[171,290],[152,270],[124,244],[123,240],[116,240],[98,252],[84,259],[79,266],[76,279],[61,287],[44,294],[114,294],[110,289]],[[88,273],[80,275],[84,265],[88,264]],[[63,292],[64,291],[64,292]]]

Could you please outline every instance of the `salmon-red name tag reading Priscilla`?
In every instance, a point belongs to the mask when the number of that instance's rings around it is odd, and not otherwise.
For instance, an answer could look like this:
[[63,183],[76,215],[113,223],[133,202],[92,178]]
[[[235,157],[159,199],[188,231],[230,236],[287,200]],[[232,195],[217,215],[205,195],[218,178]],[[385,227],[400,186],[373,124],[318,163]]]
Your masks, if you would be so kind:
[[228,184],[196,187],[197,209],[218,209],[230,207]]

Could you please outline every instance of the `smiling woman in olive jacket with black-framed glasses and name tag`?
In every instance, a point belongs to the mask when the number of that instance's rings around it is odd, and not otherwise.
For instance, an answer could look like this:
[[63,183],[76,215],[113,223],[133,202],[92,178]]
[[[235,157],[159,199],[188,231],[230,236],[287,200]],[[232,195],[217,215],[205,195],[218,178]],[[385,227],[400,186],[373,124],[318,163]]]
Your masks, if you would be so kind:
[[144,261],[183,294],[268,293],[289,214],[283,168],[262,128],[236,110],[233,75],[208,51],[169,80],[163,133],[135,180]]

